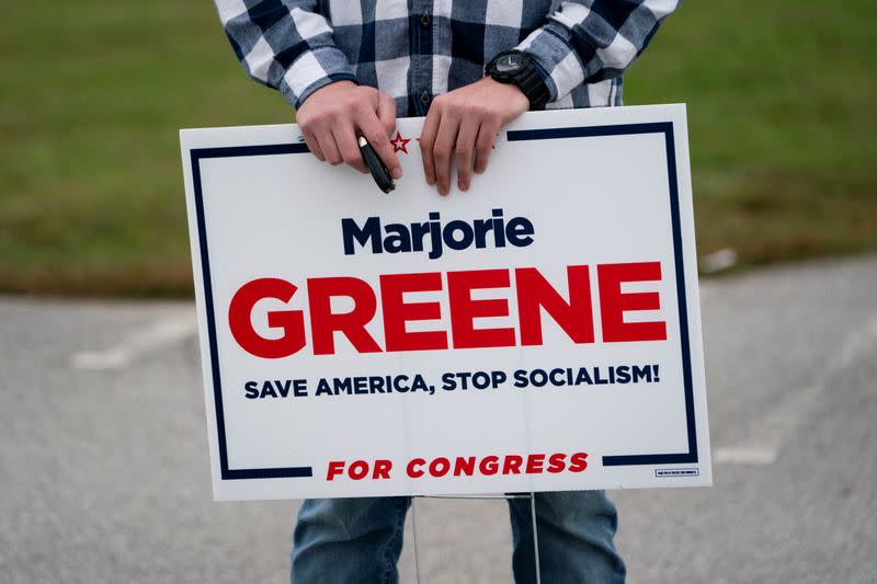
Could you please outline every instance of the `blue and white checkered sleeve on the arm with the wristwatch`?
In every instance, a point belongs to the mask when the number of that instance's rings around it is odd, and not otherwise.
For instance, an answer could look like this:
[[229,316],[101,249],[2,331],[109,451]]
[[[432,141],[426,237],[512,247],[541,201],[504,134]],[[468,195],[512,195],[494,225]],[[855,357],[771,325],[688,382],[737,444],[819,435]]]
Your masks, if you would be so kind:
[[620,76],[642,53],[681,0],[561,2],[548,22],[516,48],[533,55],[547,76],[550,101],[582,83]]

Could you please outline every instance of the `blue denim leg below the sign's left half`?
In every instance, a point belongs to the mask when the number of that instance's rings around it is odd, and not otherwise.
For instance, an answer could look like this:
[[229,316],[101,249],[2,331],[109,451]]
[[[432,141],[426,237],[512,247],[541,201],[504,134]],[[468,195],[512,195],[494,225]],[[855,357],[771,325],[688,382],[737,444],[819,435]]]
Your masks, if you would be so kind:
[[396,584],[411,499],[308,499],[293,533],[293,584]]

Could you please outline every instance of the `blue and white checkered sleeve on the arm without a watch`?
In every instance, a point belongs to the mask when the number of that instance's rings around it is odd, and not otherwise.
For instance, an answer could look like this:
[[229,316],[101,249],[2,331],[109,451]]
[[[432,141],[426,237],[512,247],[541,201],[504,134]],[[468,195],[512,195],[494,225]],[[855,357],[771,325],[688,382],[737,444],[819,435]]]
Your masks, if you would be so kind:
[[215,2],[247,75],[280,90],[294,107],[333,81],[358,83],[316,0]]

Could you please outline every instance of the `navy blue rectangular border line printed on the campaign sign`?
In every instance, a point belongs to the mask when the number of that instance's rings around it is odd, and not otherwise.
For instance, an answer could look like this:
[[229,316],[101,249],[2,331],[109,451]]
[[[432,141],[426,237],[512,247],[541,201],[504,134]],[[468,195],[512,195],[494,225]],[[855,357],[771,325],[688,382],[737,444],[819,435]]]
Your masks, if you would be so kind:
[[[550,140],[559,138],[589,138],[599,136],[625,136],[635,134],[662,134],[667,150],[667,173],[670,191],[670,211],[673,229],[673,253],[675,256],[676,297],[679,300],[680,341],[682,348],[682,367],[685,391],[685,416],[687,426],[688,451],[669,454],[641,454],[604,456],[604,467],[622,467],[638,465],[677,465],[693,463],[697,457],[697,431],[694,414],[694,386],[692,381],[691,343],[688,337],[688,310],[685,295],[685,270],[682,255],[682,225],[680,219],[679,184],[676,180],[675,141],[673,124],[658,122],[648,124],[620,124],[611,126],[569,127],[549,129],[511,130],[509,141]],[[197,217],[198,247],[201,249],[201,270],[204,279],[204,305],[207,317],[207,335],[210,346],[210,370],[213,374],[214,408],[216,411],[216,433],[219,445],[219,467],[223,480],[240,479],[281,479],[312,477],[312,467],[286,468],[228,468],[228,449],[226,446],[225,414],[223,409],[221,379],[219,375],[219,357],[216,340],[215,307],[213,286],[210,284],[210,262],[207,249],[207,230],[204,217],[204,195],[201,182],[201,161],[212,158],[235,158],[248,156],[295,154],[308,152],[305,144],[278,144],[264,146],[232,146],[219,148],[193,148],[190,151],[192,178],[195,195],[195,214]]]

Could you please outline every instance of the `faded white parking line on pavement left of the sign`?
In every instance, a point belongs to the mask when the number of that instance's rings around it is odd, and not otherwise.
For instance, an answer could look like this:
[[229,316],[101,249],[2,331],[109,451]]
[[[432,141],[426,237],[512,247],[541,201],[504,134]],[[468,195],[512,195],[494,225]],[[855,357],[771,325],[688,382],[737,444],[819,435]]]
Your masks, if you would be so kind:
[[103,351],[81,351],[70,355],[70,367],[86,370],[123,369],[137,357],[152,353],[197,333],[194,310],[163,317],[116,346]]

